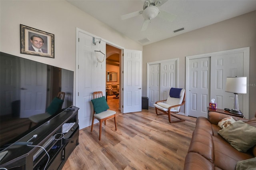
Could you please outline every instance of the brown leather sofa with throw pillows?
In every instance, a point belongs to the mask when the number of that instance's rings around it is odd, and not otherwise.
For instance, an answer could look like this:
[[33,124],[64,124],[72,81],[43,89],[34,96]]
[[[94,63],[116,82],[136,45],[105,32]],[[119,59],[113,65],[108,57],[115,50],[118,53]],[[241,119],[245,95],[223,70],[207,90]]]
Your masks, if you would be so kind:
[[[209,118],[198,117],[196,128],[185,158],[184,170],[235,170],[236,163],[256,157],[256,146],[247,152],[239,152],[231,146],[218,131],[218,122],[229,115],[210,112]],[[253,119],[233,117],[256,127],[256,113]],[[249,136],[248,136],[249,137]]]

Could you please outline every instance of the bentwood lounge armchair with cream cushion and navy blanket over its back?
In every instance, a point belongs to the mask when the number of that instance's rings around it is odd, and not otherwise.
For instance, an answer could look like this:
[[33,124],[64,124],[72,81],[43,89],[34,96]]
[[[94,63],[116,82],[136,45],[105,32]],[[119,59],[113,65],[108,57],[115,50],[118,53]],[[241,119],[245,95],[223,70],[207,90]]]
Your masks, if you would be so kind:
[[[171,88],[170,89],[170,93],[172,92],[172,90],[176,90],[176,88]],[[168,115],[168,119],[169,119],[170,123],[176,123],[176,122],[185,121],[183,119],[180,119],[176,115],[174,115],[174,113],[177,114],[177,113],[180,112],[180,106],[182,106],[184,104],[185,104],[185,89],[181,89],[180,95],[178,95],[176,97],[168,96],[168,98],[166,100],[157,101],[154,104],[155,109],[156,109],[156,115],[163,115],[163,114],[158,114],[158,112],[157,112],[157,111],[161,111],[162,113]],[[171,121],[171,115],[173,117],[176,117],[179,120]]]

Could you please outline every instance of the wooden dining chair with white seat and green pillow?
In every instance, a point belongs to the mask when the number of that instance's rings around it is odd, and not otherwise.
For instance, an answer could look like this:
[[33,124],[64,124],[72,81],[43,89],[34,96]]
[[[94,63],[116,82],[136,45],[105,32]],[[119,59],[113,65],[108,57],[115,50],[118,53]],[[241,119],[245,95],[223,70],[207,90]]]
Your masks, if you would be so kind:
[[[93,93],[93,99],[97,99],[97,98],[101,98],[103,97],[103,93],[102,91],[97,91],[97,92],[94,92]],[[102,105],[108,105],[107,103],[104,103],[106,102],[106,99],[105,101],[103,101],[101,104]],[[97,119],[99,122],[100,122],[100,136],[99,136],[99,140],[101,139],[101,130],[102,130],[102,122],[104,121],[105,125],[106,125],[106,120],[110,119],[110,118],[113,118],[114,117],[114,122],[115,122],[115,128],[116,128],[116,112],[115,111],[111,111],[111,110],[105,110],[105,111],[102,111],[100,113],[96,113],[95,112],[95,106],[96,106],[96,103],[94,103],[94,101],[92,100],[92,103],[94,105],[94,109],[93,109],[93,115],[92,115],[92,126],[91,126],[91,132],[93,130],[93,123],[94,123],[94,119]],[[100,104],[100,103],[99,103]],[[109,109],[109,107],[108,107]],[[117,130],[117,128],[116,128]]]

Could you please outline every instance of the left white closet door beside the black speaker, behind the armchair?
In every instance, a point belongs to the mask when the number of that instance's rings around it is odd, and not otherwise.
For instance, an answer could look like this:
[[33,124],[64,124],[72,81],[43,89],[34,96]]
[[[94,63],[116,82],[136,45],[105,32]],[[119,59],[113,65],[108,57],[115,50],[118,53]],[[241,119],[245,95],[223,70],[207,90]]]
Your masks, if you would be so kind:
[[149,65],[149,95],[148,106],[154,107],[154,103],[160,100],[160,63]]

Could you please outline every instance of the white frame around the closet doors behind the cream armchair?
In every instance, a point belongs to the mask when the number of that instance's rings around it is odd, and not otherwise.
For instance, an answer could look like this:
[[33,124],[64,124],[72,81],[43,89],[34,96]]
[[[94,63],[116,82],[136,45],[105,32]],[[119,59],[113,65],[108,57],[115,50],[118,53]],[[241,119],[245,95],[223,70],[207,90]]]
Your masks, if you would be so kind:
[[153,62],[149,62],[147,63],[147,91],[146,91],[146,96],[148,96],[149,94],[149,84],[150,84],[150,65],[153,65],[153,64],[160,64],[161,66],[161,63],[168,63],[168,62],[173,62],[173,61],[176,61],[176,87],[178,88],[179,87],[179,58],[173,58],[173,59],[166,59],[166,60],[160,60],[160,61],[153,61]]

